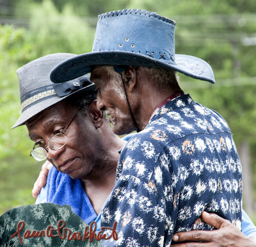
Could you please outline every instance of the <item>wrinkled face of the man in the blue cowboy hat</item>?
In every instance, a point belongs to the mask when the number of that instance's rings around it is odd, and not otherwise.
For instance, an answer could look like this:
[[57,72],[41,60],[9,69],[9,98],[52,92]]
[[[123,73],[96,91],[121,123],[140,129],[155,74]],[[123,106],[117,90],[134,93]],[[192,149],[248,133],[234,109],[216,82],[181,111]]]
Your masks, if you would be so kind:
[[106,109],[109,122],[113,125],[113,132],[128,134],[134,131],[136,128],[127,106],[120,75],[113,70],[113,67],[93,67],[91,80],[97,86],[97,108]]

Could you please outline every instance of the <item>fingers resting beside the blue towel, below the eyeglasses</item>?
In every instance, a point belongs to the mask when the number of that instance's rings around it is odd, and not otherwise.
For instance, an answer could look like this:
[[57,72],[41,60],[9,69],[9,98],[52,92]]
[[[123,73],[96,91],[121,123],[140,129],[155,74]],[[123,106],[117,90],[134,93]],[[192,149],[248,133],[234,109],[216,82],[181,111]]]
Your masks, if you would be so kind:
[[48,175],[51,167],[52,167],[52,163],[50,163],[49,161],[46,161],[42,165],[42,170],[40,171],[38,179],[36,179],[36,182],[35,182],[33,190],[32,190],[32,195],[34,198],[37,198],[42,187],[45,186],[46,181],[47,181],[47,175]]

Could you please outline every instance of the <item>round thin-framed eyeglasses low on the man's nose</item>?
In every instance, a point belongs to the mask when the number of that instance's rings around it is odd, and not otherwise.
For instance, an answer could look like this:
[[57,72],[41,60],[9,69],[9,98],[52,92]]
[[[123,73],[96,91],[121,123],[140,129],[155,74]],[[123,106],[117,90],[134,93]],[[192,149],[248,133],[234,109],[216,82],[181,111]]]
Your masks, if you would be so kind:
[[[80,109],[79,109],[80,110]],[[79,112],[77,111],[77,113]],[[76,113],[76,115],[77,115]],[[47,145],[42,147],[42,144],[40,142],[35,143],[33,149],[30,152],[30,156],[32,156],[36,161],[44,161],[44,159],[47,159],[48,157],[48,151],[47,147],[53,149],[53,150],[60,150],[62,147],[64,147],[67,144],[68,138],[65,136],[65,133],[68,130],[68,127],[72,124],[73,120],[76,118],[76,115],[72,118],[70,123],[67,125],[64,132],[60,132],[57,134],[54,134],[51,138],[48,139]]]

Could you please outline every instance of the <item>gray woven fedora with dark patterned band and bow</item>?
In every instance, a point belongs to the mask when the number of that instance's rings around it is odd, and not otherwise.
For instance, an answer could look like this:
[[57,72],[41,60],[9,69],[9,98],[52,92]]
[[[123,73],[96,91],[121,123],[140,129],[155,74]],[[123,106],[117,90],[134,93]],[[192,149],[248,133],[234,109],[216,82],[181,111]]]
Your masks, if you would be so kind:
[[22,114],[12,129],[23,125],[29,118],[44,109],[74,95],[74,93],[95,91],[90,76],[81,76],[72,81],[54,84],[49,74],[56,65],[76,54],[56,53],[33,60],[17,70],[20,84],[20,104]]

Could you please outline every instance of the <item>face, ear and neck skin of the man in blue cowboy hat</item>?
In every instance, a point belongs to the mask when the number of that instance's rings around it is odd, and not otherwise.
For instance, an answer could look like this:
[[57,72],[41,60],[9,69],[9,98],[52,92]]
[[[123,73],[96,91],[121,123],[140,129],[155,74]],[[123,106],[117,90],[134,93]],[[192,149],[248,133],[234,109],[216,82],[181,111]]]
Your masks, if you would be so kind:
[[[141,78],[143,78],[143,83]],[[113,92],[111,77],[106,66],[92,67],[91,80],[98,89],[97,107],[106,109],[107,114],[111,116],[113,132],[115,134],[127,134],[136,131],[136,127],[131,121],[126,100],[120,99],[118,94]],[[128,81],[129,83],[127,83]],[[174,92],[172,88],[159,90],[156,84],[150,81],[143,67],[127,67],[124,82],[132,113],[139,129],[142,130],[148,124],[156,107]],[[147,87],[143,87],[143,84],[147,84]]]

